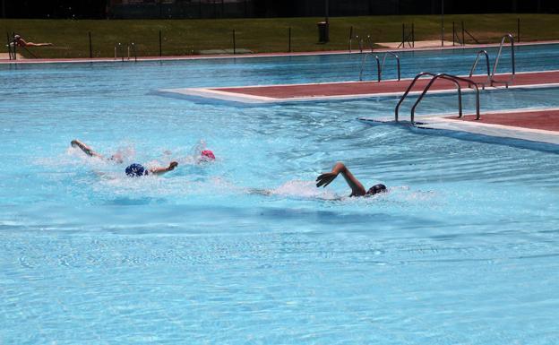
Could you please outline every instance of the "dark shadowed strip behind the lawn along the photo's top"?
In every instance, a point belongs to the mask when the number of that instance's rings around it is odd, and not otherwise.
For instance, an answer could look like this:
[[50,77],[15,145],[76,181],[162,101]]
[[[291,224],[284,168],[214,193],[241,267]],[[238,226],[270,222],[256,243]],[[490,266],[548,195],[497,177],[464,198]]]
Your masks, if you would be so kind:
[[[559,0],[328,0],[330,16],[559,13]],[[326,0],[0,0],[3,18],[321,17]]]

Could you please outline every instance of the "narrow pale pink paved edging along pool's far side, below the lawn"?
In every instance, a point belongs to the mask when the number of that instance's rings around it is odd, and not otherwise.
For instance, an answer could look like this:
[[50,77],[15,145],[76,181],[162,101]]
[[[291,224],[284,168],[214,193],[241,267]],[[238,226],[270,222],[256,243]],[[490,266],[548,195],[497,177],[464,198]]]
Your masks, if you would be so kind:
[[[546,40],[546,41],[533,41],[515,43],[515,46],[543,46],[559,44],[559,40]],[[499,43],[488,44],[472,44],[466,46],[444,46],[444,47],[406,47],[400,49],[393,48],[378,48],[374,52],[404,52],[404,51],[432,51],[432,50],[449,50],[449,49],[469,49],[479,47],[499,47]],[[363,51],[366,53],[366,51]],[[258,57],[278,57],[278,56],[328,56],[328,55],[348,55],[348,54],[361,54],[357,50],[324,50],[324,51],[310,51],[310,52],[296,52],[296,53],[255,53],[255,54],[216,54],[208,56],[142,56],[138,57],[138,62],[146,61],[181,61],[181,60],[208,60],[208,59],[223,59],[223,58],[258,58]],[[123,63],[134,62],[133,59],[112,58],[112,57],[76,57],[76,58],[39,58],[39,59],[24,59],[24,60],[8,60],[0,59],[0,65],[27,65],[27,64],[76,64],[76,63]]]

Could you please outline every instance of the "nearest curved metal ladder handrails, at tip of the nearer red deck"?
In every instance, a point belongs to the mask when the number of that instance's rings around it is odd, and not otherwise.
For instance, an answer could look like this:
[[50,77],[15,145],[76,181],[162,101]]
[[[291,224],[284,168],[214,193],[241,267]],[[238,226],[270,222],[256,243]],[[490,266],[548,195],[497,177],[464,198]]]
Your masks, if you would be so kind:
[[479,120],[479,118],[480,118],[480,115],[479,115],[479,88],[477,87],[476,82],[473,82],[472,80],[467,79],[467,78],[462,78],[462,77],[458,77],[456,75],[447,74],[447,73],[437,73],[437,74],[435,74],[435,73],[430,73],[430,72],[422,72],[422,73],[418,73],[416,75],[416,77],[413,79],[413,81],[409,84],[408,89],[406,89],[406,92],[404,92],[404,94],[400,98],[400,101],[398,102],[398,105],[394,109],[394,120],[396,122],[399,121],[398,116],[399,116],[400,105],[402,104],[404,99],[406,99],[406,97],[409,94],[409,91],[411,91],[411,89],[414,87],[417,80],[419,80],[419,78],[421,78],[425,75],[430,76],[431,80],[427,83],[423,92],[421,92],[421,94],[417,98],[416,103],[414,103],[413,107],[411,108],[411,115],[410,115],[411,125],[416,125],[415,114],[416,114],[417,105],[425,97],[427,91],[429,91],[429,89],[431,89],[431,86],[433,86],[433,83],[438,79],[444,79],[444,80],[451,81],[456,86],[456,89],[458,91],[458,113],[459,113],[458,117],[459,118],[462,117],[462,88],[460,86],[460,82],[466,82],[466,83],[468,83],[469,86],[473,86],[476,89],[476,120]]

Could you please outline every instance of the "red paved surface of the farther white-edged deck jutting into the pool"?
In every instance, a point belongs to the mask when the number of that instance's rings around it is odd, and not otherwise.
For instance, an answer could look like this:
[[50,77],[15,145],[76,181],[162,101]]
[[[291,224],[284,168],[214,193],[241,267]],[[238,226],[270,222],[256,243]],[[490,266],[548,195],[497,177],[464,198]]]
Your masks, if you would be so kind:
[[[499,75],[499,80],[507,80],[509,75]],[[486,76],[474,76],[474,82],[486,82]],[[299,85],[271,85],[253,87],[213,88],[211,91],[222,91],[236,95],[268,97],[272,99],[297,99],[313,97],[351,96],[381,93],[403,93],[409,86],[410,80],[386,81],[386,82],[334,82],[320,84]],[[412,91],[422,91],[429,79],[420,79]],[[538,84],[559,83],[559,71],[543,73],[520,73],[516,74],[513,86],[527,86]],[[462,87],[467,84],[460,82]],[[498,84],[502,86],[503,84]],[[438,79],[434,82],[431,90],[446,91],[453,90],[454,83]]]

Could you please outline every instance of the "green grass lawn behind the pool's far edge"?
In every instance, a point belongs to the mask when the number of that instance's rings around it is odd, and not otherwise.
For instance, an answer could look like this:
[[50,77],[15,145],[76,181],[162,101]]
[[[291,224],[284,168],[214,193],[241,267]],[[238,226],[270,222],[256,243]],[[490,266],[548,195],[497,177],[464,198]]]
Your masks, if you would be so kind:
[[[516,36],[520,18],[521,41],[559,39],[559,15],[554,14],[463,14],[445,15],[445,39],[452,40],[452,22],[460,22],[482,43],[496,42],[503,33]],[[316,22],[323,18],[271,18],[224,20],[0,20],[5,32],[16,32],[32,42],[52,42],[55,47],[34,47],[39,57],[89,57],[91,32],[93,56],[114,56],[116,43],[134,42],[138,56],[159,56],[159,30],[164,56],[200,54],[208,49],[236,48],[254,53],[288,51],[291,28],[292,51],[340,50],[348,48],[349,28],[354,34],[371,35],[374,42],[401,40],[401,24],[413,22],[416,40],[440,39],[441,17],[437,15],[336,17],[330,20],[330,39],[319,44]],[[4,39],[5,40],[5,39]],[[473,41],[467,40],[468,43]],[[355,47],[356,45],[354,45]],[[4,47],[4,44],[2,45]],[[6,48],[1,51],[7,51]],[[22,51],[24,56],[30,56]]]

